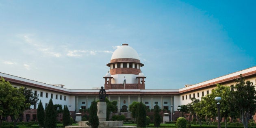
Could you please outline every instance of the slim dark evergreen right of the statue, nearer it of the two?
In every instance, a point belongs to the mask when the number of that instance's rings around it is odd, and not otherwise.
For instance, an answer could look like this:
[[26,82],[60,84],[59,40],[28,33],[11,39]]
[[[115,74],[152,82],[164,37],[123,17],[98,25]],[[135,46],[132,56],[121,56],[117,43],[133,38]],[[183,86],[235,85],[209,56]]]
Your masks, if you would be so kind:
[[138,127],[146,127],[147,125],[147,112],[146,105],[142,102],[137,106],[137,126]]

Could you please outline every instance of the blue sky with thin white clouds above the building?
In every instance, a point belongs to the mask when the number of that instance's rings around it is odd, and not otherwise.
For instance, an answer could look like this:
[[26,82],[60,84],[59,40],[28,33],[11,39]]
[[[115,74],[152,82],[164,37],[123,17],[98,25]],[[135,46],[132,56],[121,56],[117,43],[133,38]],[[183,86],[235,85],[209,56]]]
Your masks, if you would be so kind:
[[256,65],[254,0],[1,0],[0,72],[68,89],[104,85],[122,43],[146,89],[180,89]]

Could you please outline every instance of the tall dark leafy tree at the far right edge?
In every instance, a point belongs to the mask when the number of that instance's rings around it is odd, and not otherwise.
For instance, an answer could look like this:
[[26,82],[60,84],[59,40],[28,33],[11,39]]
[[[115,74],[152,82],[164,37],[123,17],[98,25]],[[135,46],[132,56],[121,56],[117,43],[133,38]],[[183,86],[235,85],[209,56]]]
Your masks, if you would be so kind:
[[240,74],[240,78],[236,79],[234,89],[234,102],[239,108],[244,128],[248,128],[249,117],[256,112],[255,86],[250,81],[245,82],[245,79]]

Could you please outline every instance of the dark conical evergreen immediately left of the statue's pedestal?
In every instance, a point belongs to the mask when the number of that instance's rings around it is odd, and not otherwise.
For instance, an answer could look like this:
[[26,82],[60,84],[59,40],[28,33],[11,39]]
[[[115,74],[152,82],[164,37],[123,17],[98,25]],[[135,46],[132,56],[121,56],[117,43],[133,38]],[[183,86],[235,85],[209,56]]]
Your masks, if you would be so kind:
[[91,126],[92,128],[98,128],[99,126],[99,117],[97,115],[97,112],[98,112],[97,102],[93,100],[90,106],[89,123],[87,123],[87,125]]

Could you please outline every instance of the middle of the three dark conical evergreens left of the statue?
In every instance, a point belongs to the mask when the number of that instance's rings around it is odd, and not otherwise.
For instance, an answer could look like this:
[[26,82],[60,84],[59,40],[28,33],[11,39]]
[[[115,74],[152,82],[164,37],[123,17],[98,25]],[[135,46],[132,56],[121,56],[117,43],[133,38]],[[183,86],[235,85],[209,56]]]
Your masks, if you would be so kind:
[[56,111],[52,102],[52,99],[50,99],[48,106],[46,107],[46,118],[44,122],[44,126],[46,128],[56,128]]

